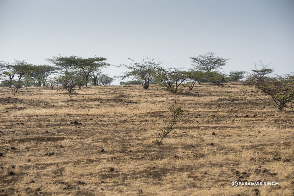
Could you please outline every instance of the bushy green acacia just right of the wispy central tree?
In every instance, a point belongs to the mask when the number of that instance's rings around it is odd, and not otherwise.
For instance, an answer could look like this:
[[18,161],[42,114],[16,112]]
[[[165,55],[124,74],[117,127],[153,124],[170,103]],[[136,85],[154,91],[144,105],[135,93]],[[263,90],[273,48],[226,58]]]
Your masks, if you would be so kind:
[[166,89],[172,93],[178,91],[178,87],[188,78],[186,71],[180,71],[176,68],[164,69],[158,68],[156,72],[156,81],[160,82]]

